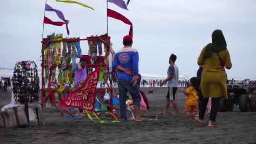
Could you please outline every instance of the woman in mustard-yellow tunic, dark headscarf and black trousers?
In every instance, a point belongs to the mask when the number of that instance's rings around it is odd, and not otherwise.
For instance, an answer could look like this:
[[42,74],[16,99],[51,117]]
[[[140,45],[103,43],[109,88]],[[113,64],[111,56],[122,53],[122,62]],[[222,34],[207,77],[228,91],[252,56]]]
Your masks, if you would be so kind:
[[211,96],[212,106],[208,127],[213,127],[221,97],[227,98],[227,75],[226,69],[231,69],[227,43],[221,30],[217,29],[212,34],[212,43],[206,45],[197,60],[198,65],[204,65],[201,76],[201,93],[199,101],[199,117],[195,119],[203,123],[205,109],[209,96]]

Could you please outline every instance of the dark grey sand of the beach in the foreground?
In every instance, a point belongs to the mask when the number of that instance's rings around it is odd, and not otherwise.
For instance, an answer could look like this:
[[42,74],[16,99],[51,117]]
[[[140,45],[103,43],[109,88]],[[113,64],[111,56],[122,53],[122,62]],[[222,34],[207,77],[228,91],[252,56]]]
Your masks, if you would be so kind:
[[[94,123],[88,118],[64,119],[54,108],[45,108],[45,126],[0,128],[0,144],[256,144],[256,113],[218,113],[216,127],[185,122],[185,96],[178,93],[180,115],[159,115],[165,104],[166,88],[141,88],[147,94],[150,109],[143,111],[149,122]],[[0,107],[10,102],[10,94],[0,97]],[[158,119],[155,120],[156,115]],[[207,122],[208,116],[205,117]]]

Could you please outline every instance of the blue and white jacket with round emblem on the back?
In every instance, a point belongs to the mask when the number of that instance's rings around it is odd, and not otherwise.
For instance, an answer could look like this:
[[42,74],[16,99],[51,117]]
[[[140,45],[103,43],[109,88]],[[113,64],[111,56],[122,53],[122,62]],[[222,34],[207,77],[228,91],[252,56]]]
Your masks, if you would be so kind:
[[[134,75],[128,75],[123,71],[118,70],[118,67],[131,69]],[[131,81],[133,77],[138,78],[139,74],[139,53],[135,48],[123,47],[115,54],[113,68],[117,69],[118,79]]]

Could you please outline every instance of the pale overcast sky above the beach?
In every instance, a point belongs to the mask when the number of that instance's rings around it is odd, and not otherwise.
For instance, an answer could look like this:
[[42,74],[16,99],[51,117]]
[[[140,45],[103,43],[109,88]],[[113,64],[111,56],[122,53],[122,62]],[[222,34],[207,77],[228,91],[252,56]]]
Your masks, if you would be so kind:
[[[76,4],[47,0],[48,5],[64,13],[69,20],[69,37],[85,38],[107,32],[106,0],[77,0]],[[125,0],[126,1],[126,0]],[[179,75],[196,75],[197,57],[211,43],[211,34],[221,29],[227,41],[233,67],[229,77],[255,78],[256,40],[255,0],[131,0],[129,11],[109,3],[133,23],[133,47],[139,51],[139,72],[167,75],[171,53],[177,55]],[[0,5],[0,67],[12,68],[16,61],[37,61],[41,55],[42,32],[67,37],[66,27],[44,25],[45,0],[2,0]],[[61,21],[54,12],[45,12],[53,21]],[[129,25],[109,18],[108,30],[113,49],[122,48]],[[83,53],[88,44],[81,42]],[[40,60],[37,61],[40,67]]]

